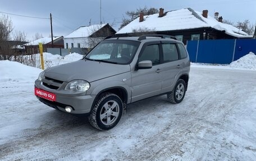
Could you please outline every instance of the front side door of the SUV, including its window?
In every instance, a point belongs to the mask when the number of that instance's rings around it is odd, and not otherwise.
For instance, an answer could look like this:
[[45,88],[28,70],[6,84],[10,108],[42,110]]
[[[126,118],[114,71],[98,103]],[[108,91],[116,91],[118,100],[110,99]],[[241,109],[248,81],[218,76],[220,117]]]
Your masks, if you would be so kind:
[[153,67],[131,72],[132,102],[161,94],[159,43],[144,45],[138,57],[138,62],[140,61],[152,61]]

